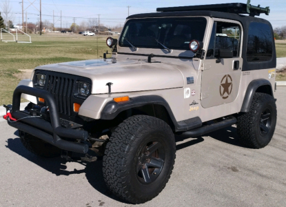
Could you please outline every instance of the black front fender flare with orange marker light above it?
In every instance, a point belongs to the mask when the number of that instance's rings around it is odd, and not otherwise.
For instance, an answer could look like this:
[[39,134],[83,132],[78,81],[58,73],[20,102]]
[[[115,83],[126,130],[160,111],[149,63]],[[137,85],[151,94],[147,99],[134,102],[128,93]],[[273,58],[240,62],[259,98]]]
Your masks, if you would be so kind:
[[199,117],[194,117],[192,119],[187,119],[184,121],[176,121],[172,109],[170,108],[167,101],[163,99],[163,97],[160,97],[158,95],[132,97],[130,98],[130,101],[124,101],[121,103],[116,103],[115,101],[109,101],[108,103],[106,103],[103,110],[101,111],[101,119],[111,120],[114,119],[117,115],[119,115],[120,112],[124,110],[144,106],[147,104],[157,104],[164,106],[165,109],[167,110],[168,115],[172,120],[172,123],[174,124],[176,131],[190,130],[192,128],[197,128],[202,125],[202,121]]

